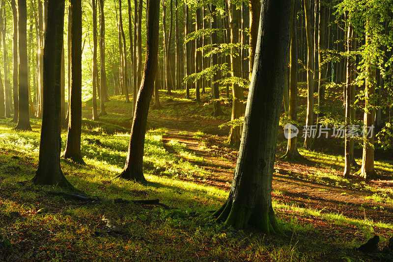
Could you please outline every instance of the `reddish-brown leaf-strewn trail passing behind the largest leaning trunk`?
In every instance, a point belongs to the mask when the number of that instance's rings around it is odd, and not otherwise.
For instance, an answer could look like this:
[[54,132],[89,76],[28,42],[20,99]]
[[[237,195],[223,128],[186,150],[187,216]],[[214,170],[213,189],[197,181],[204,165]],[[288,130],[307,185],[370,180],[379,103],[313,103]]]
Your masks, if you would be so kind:
[[[188,152],[202,157],[202,161],[185,160],[198,165],[211,174],[204,177],[194,176],[191,179],[181,178],[182,180],[208,184],[225,190],[230,189],[237,151],[223,147],[218,143],[219,140],[225,140],[225,137],[207,135],[207,138],[200,138],[194,132],[168,130],[167,135],[163,137],[164,148],[169,153],[182,157],[180,152],[170,145],[171,140],[183,143]],[[312,181],[313,177],[317,177],[317,172],[337,173],[338,171],[280,160],[276,161],[275,170],[272,196],[280,203],[299,208],[322,210],[321,212],[343,214],[354,219],[372,219],[376,222],[393,223],[391,215],[393,205],[370,199],[372,192],[331,185],[329,184],[332,180],[330,178],[322,178],[322,181],[326,183]],[[309,176],[309,179],[300,177],[305,175]]]

